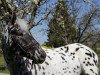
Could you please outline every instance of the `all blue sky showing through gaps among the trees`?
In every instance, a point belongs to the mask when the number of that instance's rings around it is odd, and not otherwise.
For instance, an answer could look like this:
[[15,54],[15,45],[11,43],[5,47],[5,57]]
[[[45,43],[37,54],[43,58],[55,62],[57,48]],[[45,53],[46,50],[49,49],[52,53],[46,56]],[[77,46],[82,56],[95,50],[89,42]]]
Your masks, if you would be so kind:
[[[50,2],[48,4],[45,4],[44,6],[42,6],[42,8],[45,9],[46,7],[49,7],[49,5],[52,6],[52,7],[54,7],[53,4],[56,3],[56,2],[57,2],[57,0],[50,0]],[[95,5],[94,6],[100,7],[100,0],[94,0],[94,2],[95,2]],[[80,11],[81,13],[80,13],[79,17],[81,15],[83,15],[84,12],[87,12],[89,10],[89,8],[90,8],[90,5],[87,4],[87,3],[86,4],[82,3],[80,5],[82,6],[81,7],[82,10]],[[77,6],[79,6],[79,5],[77,4]],[[35,19],[35,22],[38,22],[41,19],[41,16],[42,15],[38,16],[38,18]],[[47,25],[48,24],[44,21],[42,23],[42,25],[35,26],[35,27],[33,27],[31,29],[31,33],[32,33],[33,37],[41,45],[44,44],[45,42],[47,42],[47,39],[48,39],[47,33],[46,33],[46,30],[48,29],[48,26]],[[100,27],[99,24],[97,26]]]

